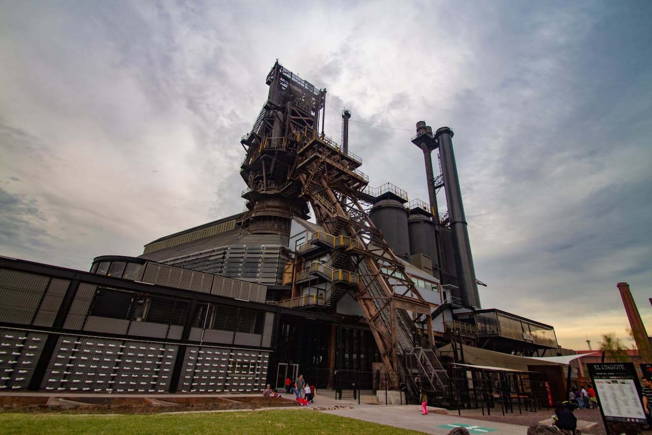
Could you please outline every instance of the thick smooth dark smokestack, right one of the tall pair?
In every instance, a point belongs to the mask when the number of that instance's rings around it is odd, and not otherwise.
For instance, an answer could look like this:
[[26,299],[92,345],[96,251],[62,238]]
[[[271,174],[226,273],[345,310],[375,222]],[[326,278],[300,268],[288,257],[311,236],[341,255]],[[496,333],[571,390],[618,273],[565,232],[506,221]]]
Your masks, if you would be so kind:
[[469,232],[464,216],[464,205],[462,205],[462,190],[460,190],[460,180],[452,150],[452,136],[453,132],[448,127],[441,127],[435,133],[439,145],[439,158],[441,158],[441,172],[444,177],[452,240],[455,245],[455,267],[462,303],[481,308],[478,284],[475,280],[475,267],[473,267],[473,257],[471,256]]

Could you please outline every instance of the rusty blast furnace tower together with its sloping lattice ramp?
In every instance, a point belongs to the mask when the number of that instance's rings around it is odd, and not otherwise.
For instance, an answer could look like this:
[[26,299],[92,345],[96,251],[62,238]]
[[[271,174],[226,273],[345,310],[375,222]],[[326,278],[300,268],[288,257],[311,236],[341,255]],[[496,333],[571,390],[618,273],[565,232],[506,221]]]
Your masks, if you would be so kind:
[[[428,390],[443,393],[446,372],[434,350],[415,348],[413,340],[415,320],[421,316],[433,341],[430,305],[366,213],[363,190],[368,177],[358,169],[361,158],[323,133],[326,90],[317,89],[278,61],[267,84],[267,101],[241,141],[246,150],[241,175],[248,185],[243,192],[248,208],[244,227],[253,233],[287,231],[293,216],[308,217],[310,203],[327,232],[311,243],[328,240],[333,268],[357,274],[355,298],[391,387],[398,389],[406,383],[409,389],[417,389],[414,378],[418,376],[421,382],[428,380]],[[330,297],[327,305],[336,303],[341,292]]]

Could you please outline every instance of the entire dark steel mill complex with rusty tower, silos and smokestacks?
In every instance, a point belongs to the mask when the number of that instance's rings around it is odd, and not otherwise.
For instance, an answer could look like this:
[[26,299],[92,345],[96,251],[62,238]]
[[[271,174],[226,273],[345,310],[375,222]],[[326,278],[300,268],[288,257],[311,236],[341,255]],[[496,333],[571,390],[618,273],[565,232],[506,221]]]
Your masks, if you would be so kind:
[[378,370],[390,389],[443,400],[437,344],[556,347],[551,327],[545,342],[532,329],[547,325],[517,318],[520,335],[507,334],[514,316],[479,310],[450,129],[417,125],[430,205],[408,202],[368,186],[348,149],[350,112],[345,147],[324,135],[325,89],[278,61],[267,84],[241,141],[243,213],[160,237],[139,258],[95,258],[88,273],[0,258],[0,388],[253,391],[299,372],[372,388]]

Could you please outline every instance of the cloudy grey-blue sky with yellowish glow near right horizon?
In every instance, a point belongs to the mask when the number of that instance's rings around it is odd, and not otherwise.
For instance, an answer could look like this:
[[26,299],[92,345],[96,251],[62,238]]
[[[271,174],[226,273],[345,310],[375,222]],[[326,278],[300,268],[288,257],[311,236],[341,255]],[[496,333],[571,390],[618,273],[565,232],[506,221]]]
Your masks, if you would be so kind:
[[[370,185],[427,200],[449,126],[482,308],[561,346],[652,333],[649,1],[0,1],[0,255],[88,270],[239,213],[278,59]],[[440,211],[445,210],[443,190]]]

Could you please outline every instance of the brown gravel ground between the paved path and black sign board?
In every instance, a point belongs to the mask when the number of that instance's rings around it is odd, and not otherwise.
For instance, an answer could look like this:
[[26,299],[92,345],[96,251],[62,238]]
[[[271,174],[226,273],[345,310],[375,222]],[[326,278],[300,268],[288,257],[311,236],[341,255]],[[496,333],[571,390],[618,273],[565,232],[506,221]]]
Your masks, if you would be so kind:
[[[503,413],[500,408],[492,409],[491,415],[486,415],[486,410],[484,410],[484,415],[482,415],[481,410],[462,410],[462,417],[469,417],[478,420],[484,421],[496,421],[498,423],[509,423],[511,425],[520,425],[520,426],[530,426],[540,421],[546,421],[546,423],[552,425],[552,415],[554,415],[555,410],[550,408],[550,410],[543,408],[537,412],[529,412],[522,410],[522,413],[518,413],[518,408],[514,408],[514,413]],[[456,411],[449,411],[450,415],[457,415]],[[592,435],[607,435],[606,430],[604,430],[604,425],[602,424],[602,415],[600,415],[600,410],[597,408],[591,410],[575,410],[575,417],[579,421],[595,421],[597,425],[583,429],[582,434],[592,434]],[[645,432],[644,432],[645,433]]]

